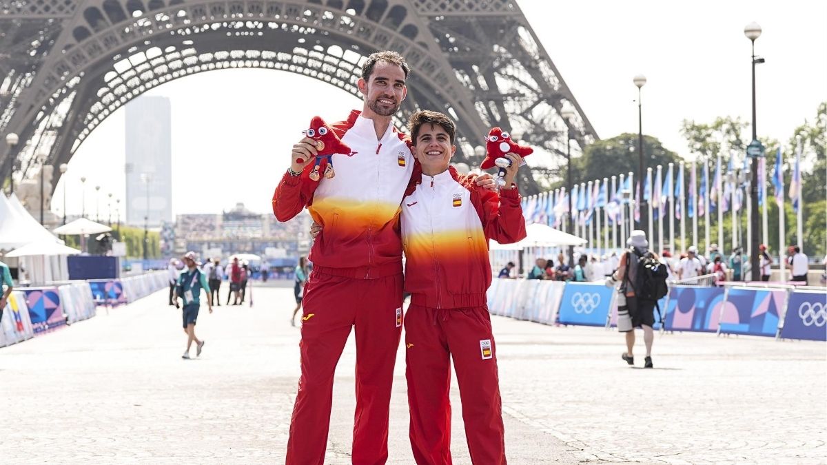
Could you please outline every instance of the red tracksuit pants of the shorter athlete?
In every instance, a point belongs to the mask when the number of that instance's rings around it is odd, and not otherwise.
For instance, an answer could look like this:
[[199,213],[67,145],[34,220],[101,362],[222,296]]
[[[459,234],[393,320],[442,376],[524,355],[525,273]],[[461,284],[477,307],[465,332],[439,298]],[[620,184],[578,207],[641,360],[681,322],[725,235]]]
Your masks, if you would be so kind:
[[419,465],[451,462],[451,359],[457,372],[471,462],[505,463],[500,379],[488,309],[431,309],[405,314],[410,439]]

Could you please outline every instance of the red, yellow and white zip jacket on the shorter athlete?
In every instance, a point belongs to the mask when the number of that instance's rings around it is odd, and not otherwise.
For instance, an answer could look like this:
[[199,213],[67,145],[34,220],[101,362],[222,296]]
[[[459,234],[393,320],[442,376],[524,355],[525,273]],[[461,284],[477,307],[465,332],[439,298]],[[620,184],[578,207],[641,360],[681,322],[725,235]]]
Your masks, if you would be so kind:
[[518,242],[526,235],[516,186],[498,196],[452,167],[422,175],[402,201],[405,291],[411,304],[436,309],[486,304],[491,285],[488,240]]

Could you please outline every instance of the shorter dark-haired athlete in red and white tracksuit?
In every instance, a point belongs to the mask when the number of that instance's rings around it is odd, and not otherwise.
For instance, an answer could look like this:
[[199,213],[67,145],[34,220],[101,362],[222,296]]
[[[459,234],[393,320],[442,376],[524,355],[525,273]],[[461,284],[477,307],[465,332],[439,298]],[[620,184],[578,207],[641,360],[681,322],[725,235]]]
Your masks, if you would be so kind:
[[506,170],[500,195],[461,179],[449,165],[456,127],[442,113],[420,111],[408,127],[422,178],[402,202],[406,257],[405,315],[410,439],[419,465],[451,463],[451,362],[457,372],[471,461],[505,463],[494,336],[485,291],[491,284],[488,239],[525,237],[513,184],[522,159]]

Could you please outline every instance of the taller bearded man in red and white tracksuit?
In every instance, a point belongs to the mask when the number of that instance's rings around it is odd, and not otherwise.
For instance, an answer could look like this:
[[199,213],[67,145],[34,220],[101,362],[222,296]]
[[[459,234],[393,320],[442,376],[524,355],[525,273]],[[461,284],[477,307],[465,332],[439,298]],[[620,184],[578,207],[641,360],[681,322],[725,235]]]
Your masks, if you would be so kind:
[[[407,89],[409,68],[390,51],[370,55],[358,86],[364,95],[332,129],[356,154],[336,156],[336,176],[309,177],[313,139],[294,145],[289,171],[273,195],[280,221],[306,206],[323,226],[309,259],[304,287],[302,375],[290,422],[288,464],[324,463],[330,425],[333,372],[356,327],[356,415],[353,463],[385,463],[388,410],[396,350],[402,330],[402,244],[399,204],[414,172],[404,134],[391,122]],[[326,161],[321,162],[324,172]]]

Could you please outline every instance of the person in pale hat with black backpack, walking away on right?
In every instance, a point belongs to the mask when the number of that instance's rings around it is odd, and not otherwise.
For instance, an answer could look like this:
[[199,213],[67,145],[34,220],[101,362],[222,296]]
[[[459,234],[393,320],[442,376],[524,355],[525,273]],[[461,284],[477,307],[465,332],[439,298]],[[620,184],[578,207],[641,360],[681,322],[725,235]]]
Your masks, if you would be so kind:
[[[646,346],[643,367],[652,368],[652,345],[655,339],[652,327],[655,324],[654,309],[657,300],[648,300],[643,290],[643,277],[647,270],[643,268],[642,262],[646,259],[657,261],[658,257],[654,252],[649,252],[646,232],[634,230],[626,244],[629,250],[620,257],[618,270],[607,281],[609,285],[617,285],[618,289],[618,331],[626,333],[626,352],[621,357],[629,365],[634,365],[634,328],[642,328],[643,343]],[[663,273],[662,279],[662,284],[666,285],[666,273]]]

